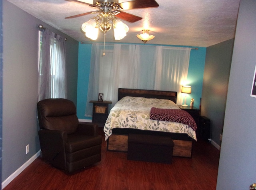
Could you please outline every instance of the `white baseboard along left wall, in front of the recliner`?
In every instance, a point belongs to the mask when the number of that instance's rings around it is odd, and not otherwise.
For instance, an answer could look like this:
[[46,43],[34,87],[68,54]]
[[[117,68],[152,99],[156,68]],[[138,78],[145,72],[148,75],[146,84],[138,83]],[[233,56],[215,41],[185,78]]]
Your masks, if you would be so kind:
[[2,182],[2,189],[5,188],[14,178],[16,178],[26,167],[28,167],[38,156],[40,156],[41,150],[36,152],[28,161],[26,161],[18,170],[13,172],[6,180]]

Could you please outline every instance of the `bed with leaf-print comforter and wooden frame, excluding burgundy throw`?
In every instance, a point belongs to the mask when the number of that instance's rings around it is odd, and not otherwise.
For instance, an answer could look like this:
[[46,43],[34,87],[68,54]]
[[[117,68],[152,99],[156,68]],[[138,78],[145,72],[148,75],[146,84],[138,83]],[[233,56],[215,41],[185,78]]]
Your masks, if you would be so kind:
[[[177,92],[141,89],[118,89],[118,103],[111,109],[104,126],[108,151],[127,152],[128,134],[169,136],[174,141],[173,156],[191,158],[192,144],[196,141],[196,128],[184,123],[159,121],[151,118],[155,109],[177,109]],[[140,109],[134,110],[138,106]],[[128,111],[123,118],[124,110]],[[129,123],[136,120],[135,123]]]

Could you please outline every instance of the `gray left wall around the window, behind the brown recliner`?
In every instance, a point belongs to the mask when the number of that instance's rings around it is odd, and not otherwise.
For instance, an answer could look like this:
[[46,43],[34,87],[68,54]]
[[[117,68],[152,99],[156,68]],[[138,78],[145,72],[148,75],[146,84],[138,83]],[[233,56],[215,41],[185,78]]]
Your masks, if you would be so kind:
[[68,99],[76,105],[78,42],[3,0],[2,181],[40,150],[36,113],[39,24],[68,38]]

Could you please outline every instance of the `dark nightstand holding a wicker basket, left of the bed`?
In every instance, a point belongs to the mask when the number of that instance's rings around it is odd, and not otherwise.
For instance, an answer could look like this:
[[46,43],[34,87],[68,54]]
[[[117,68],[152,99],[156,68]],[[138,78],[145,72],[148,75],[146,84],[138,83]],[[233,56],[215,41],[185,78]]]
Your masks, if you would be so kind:
[[89,103],[93,103],[92,123],[97,123],[99,127],[104,127],[108,118],[108,105],[112,104],[112,101],[91,100]]

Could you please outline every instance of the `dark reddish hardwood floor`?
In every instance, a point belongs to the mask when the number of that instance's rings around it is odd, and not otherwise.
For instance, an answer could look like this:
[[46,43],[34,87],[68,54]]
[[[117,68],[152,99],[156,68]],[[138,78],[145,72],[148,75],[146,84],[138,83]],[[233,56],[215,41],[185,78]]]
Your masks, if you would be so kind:
[[101,162],[68,174],[37,158],[4,190],[215,190],[219,156],[212,144],[198,140],[192,158],[132,161],[126,153],[106,151],[103,139]]

